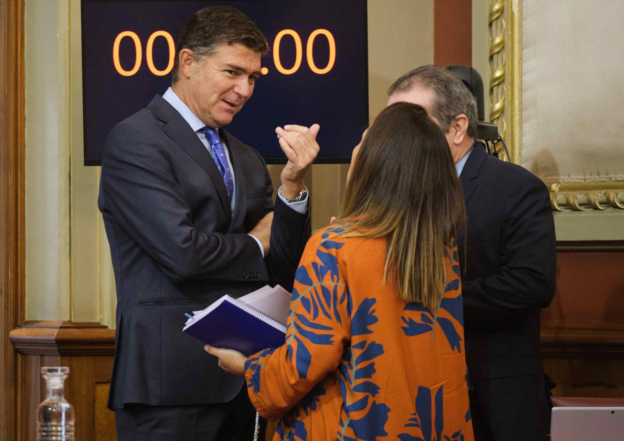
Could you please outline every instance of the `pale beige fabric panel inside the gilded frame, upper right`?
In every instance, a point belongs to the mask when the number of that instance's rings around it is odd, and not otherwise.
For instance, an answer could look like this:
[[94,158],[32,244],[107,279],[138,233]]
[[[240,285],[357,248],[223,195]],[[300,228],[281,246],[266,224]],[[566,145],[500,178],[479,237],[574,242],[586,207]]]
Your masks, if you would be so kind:
[[522,0],[522,165],[547,183],[624,181],[624,2]]

